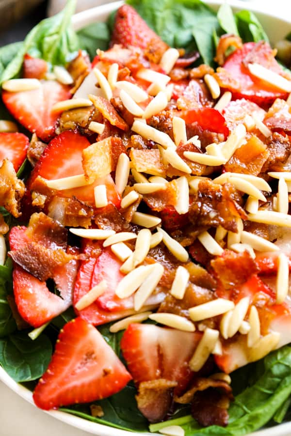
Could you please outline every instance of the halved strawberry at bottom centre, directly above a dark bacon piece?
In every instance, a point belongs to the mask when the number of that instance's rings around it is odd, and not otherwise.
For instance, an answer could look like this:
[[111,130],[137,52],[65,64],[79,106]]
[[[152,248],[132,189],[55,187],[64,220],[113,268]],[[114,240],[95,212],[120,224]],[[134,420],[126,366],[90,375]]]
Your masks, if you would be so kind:
[[176,381],[179,394],[192,377],[188,363],[200,338],[199,332],[130,324],[120,346],[136,383],[160,378]]

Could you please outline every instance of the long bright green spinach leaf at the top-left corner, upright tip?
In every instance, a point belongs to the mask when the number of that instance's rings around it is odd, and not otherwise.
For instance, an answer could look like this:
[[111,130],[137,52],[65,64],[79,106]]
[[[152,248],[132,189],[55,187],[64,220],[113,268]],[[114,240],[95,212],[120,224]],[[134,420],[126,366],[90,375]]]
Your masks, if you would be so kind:
[[[19,74],[23,56],[27,52],[54,65],[65,64],[68,56],[79,48],[77,35],[70,25],[75,5],[76,0],[68,0],[62,12],[38,23],[28,33],[24,42],[19,43],[17,50],[14,46],[13,59],[9,59],[7,65],[3,65],[2,73],[0,70],[0,83]],[[5,55],[6,50],[9,51],[7,47],[3,47]]]

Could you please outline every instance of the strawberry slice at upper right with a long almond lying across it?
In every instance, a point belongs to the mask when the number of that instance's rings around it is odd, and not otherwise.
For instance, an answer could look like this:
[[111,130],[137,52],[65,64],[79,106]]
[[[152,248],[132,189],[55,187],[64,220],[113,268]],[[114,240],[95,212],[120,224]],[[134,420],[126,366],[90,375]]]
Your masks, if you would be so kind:
[[239,83],[240,90],[226,86],[233,92],[233,98],[246,98],[258,105],[270,105],[276,98],[287,98],[287,94],[279,91],[274,86],[252,76],[248,69],[248,63],[256,62],[264,67],[282,74],[283,69],[275,60],[274,52],[267,43],[246,43],[235,50],[226,60],[224,68]]

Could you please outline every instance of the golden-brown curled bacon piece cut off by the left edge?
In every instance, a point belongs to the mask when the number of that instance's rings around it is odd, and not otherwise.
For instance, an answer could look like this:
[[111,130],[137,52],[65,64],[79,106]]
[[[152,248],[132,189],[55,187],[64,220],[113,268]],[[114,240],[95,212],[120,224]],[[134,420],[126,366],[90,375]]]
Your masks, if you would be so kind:
[[9,159],[3,159],[0,166],[0,206],[15,218],[21,216],[20,201],[24,196],[25,185],[17,179],[13,164]]

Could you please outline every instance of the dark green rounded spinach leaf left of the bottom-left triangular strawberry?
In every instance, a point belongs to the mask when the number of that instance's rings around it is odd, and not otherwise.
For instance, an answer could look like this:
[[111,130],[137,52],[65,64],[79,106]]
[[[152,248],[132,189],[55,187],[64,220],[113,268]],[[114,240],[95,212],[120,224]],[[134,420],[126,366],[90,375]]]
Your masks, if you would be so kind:
[[47,336],[32,341],[27,332],[0,339],[0,364],[16,382],[35,380],[46,371],[52,354]]

